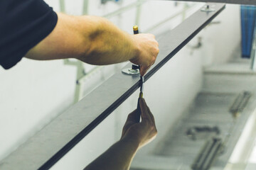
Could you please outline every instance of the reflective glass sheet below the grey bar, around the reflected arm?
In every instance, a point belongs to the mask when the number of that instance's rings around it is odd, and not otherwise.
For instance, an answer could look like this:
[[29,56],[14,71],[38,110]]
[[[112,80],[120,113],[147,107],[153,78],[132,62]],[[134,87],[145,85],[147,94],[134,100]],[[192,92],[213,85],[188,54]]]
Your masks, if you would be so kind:
[[[240,21],[235,19],[239,9],[228,6],[146,81],[144,98],[154,114],[158,135],[139,149],[131,170],[246,168],[255,141],[256,74],[250,69],[251,61],[240,57]],[[234,18],[225,17],[227,13]],[[234,28],[230,35],[218,34],[229,33],[230,27]],[[74,164],[82,169],[117,142],[127,115],[137,107],[138,96],[139,90],[53,169],[74,169]]]

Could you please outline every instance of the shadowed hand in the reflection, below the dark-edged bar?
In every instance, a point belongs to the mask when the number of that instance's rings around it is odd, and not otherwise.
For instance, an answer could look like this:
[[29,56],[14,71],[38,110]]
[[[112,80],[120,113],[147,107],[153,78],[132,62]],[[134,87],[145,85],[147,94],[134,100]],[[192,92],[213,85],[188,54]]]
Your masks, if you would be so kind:
[[121,140],[134,142],[140,148],[154,140],[157,131],[154,116],[146,106],[144,98],[139,100],[139,105],[142,111],[142,122],[137,123],[137,110],[130,113],[124,124]]

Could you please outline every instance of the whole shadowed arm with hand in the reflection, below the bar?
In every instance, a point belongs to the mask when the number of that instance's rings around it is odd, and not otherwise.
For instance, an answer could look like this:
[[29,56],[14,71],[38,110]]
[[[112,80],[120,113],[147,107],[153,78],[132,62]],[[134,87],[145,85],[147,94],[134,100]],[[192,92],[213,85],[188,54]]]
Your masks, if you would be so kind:
[[137,110],[130,113],[122,131],[121,140],[107,149],[100,157],[89,164],[85,170],[128,170],[137,149],[156,137],[154,116],[146,106],[144,98],[140,100],[142,122],[137,123]]

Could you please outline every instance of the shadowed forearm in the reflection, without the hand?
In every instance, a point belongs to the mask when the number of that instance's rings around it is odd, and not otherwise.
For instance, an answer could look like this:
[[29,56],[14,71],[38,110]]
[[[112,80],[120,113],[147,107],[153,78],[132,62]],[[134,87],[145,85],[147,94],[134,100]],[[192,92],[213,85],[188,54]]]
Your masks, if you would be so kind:
[[119,140],[85,170],[128,170],[139,145],[127,140]]

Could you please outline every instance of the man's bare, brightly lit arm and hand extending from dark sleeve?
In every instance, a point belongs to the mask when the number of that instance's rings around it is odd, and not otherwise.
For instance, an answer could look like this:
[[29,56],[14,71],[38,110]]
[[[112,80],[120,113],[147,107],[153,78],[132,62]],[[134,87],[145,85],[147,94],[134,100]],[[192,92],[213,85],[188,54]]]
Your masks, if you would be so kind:
[[33,60],[76,58],[97,65],[130,60],[141,65],[141,72],[145,74],[158,53],[154,35],[129,35],[97,16],[58,13],[53,32],[29,50],[26,57]]

